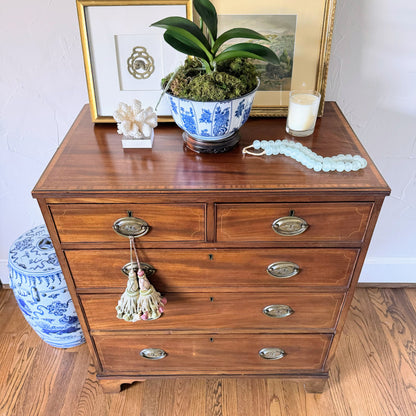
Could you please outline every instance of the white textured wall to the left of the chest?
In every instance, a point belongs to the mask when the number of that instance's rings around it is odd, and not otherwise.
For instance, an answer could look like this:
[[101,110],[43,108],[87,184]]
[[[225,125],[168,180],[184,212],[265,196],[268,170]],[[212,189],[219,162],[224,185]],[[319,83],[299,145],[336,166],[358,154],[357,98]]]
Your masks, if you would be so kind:
[[88,102],[75,0],[0,2],[0,279],[43,222],[31,191]]

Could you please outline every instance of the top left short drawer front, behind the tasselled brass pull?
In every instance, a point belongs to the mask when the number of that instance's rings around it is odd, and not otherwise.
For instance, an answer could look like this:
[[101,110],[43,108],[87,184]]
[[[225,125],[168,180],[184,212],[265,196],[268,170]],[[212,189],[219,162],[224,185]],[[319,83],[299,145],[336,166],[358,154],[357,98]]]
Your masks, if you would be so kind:
[[129,211],[150,227],[140,241],[205,241],[202,204],[63,204],[50,209],[63,243],[126,242],[114,232],[113,224]]

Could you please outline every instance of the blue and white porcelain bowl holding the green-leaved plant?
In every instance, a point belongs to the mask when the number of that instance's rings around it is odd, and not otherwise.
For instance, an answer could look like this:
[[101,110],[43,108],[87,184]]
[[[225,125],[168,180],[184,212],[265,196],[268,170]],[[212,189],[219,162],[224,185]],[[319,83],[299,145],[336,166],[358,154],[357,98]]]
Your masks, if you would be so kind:
[[220,141],[235,134],[247,121],[257,87],[246,95],[224,101],[193,101],[167,93],[175,123],[201,141]]

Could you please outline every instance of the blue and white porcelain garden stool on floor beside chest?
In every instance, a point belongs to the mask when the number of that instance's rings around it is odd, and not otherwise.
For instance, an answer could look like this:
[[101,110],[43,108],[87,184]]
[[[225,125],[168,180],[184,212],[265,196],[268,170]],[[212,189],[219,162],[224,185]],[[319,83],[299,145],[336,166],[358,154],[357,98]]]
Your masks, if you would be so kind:
[[20,236],[9,251],[11,288],[29,325],[49,345],[85,342],[65,278],[44,225]]

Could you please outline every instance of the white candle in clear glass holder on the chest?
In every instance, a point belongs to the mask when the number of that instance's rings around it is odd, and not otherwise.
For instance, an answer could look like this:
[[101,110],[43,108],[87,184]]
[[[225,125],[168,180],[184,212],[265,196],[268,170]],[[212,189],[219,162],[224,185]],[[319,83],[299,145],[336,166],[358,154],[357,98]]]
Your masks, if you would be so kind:
[[321,94],[318,91],[290,91],[286,132],[296,137],[313,133]]

